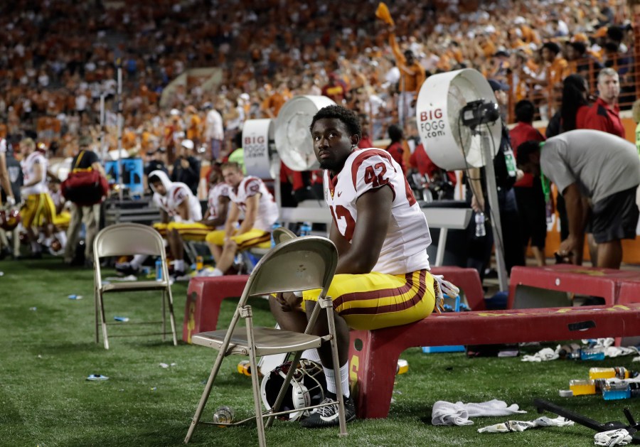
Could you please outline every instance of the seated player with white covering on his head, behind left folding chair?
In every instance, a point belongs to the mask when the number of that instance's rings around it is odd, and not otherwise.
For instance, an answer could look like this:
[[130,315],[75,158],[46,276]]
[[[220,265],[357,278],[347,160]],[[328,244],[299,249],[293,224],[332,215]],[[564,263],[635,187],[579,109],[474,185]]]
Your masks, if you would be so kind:
[[[153,226],[169,243],[169,248],[173,253],[178,249],[178,245],[180,249],[182,248],[182,239],[178,228],[192,225],[196,220],[202,219],[200,201],[191,193],[187,185],[170,181],[164,171],[151,171],[149,186],[154,191],[153,201],[160,209],[161,216],[161,222],[156,222]],[[123,274],[134,274],[145,259],[146,255],[137,254],[132,262],[116,264],[116,269]],[[174,279],[184,276],[184,269],[184,260],[176,259]]]

